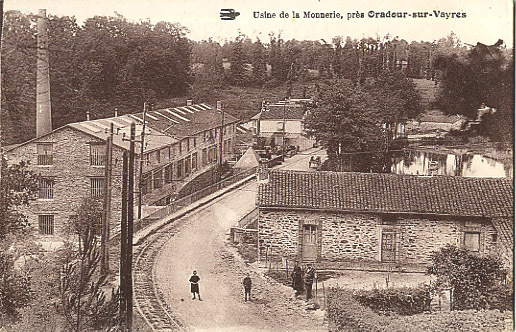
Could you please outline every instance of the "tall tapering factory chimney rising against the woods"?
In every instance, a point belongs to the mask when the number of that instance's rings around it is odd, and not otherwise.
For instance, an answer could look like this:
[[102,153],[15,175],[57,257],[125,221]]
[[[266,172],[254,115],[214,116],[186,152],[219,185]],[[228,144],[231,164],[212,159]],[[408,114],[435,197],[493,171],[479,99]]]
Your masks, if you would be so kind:
[[38,12],[36,60],[36,137],[52,131],[50,110],[50,74],[48,64],[47,11]]

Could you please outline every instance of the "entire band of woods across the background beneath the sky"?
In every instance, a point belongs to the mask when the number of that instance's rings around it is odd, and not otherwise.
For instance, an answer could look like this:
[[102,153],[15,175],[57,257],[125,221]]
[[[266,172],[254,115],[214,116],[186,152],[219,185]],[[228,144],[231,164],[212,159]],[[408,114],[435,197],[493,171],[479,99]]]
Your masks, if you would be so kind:
[[[35,22],[34,16],[19,12],[11,11],[5,16],[2,119],[4,141],[8,144],[35,136]],[[96,16],[82,24],[73,17],[50,16],[48,32],[54,128],[84,120],[87,111],[93,118],[110,116],[114,108],[120,114],[137,112],[144,101],[164,105],[172,98],[193,97],[199,102],[212,102],[232,86],[260,91],[285,86],[283,97],[287,97],[296,82],[350,80],[365,87],[368,81],[384,77],[387,72],[431,79],[436,85],[447,80],[441,95],[448,91],[447,99],[453,101],[450,96],[460,84],[452,87],[449,78],[455,75],[457,82],[465,79],[464,75],[469,74],[459,68],[464,63],[476,63],[476,72],[482,72],[478,67],[485,64],[468,55],[468,49],[453,33],[434,42],[410,43],[390,35],[298,41],[285,40],[274,33],[267,40],[252,40],[240,34],[224,43],[211,39],[193,42],[186,37],[187,29],[179,24],[135,23],[122,16]],[[490,61],[487,65],[505,66],[502,69],[507,70],[505,64]],[[496,70],[492,76],[496,76]],[[481,84],[479,79],[472,84]],[[509,83],[503,84],[504,89]],[[389,86],[386,83],[383,88]],[[496,84],[490,86],[501,91]],[[393,92],[386,91],[383,93]],[[305,92],[303,96],[308,96]],[[495,94],[491,96],[493,100],[502,100]],[[477,99],[469,98],[469,106],[477,105]],[[452,111],[445,100],[441,98],[439,107],[449,113],[462,112]],[[482,102],[488,104],[486,100]],[[385,107],[387,113],[392,109]]]

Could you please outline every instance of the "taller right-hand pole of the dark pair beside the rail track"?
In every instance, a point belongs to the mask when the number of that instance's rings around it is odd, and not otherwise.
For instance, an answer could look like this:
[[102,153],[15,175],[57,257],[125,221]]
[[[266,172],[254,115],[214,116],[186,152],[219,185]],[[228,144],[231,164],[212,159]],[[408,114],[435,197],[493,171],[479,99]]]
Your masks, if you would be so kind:
[[131,141],[129,142],[129,184],[127,188],[127,331],[133,329],[133,223],[134,223],[134,144],[136,126],[131,124]]

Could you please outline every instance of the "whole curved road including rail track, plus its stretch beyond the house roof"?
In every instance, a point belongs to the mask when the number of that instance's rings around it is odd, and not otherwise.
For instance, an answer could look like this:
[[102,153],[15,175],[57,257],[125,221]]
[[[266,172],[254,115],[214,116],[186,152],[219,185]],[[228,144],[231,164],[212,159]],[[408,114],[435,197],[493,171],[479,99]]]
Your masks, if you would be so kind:
[[[311,149],[276,168],[309,170],[310,156],[320,153]],[[137,247],[135,301],[153,330],[327,331],[320,310],[307,311],[291,288],[264,277],[257,264],[245,264],[228,242],[230,227],[255,208],[256,192],[256,182],[242,186],[159,228]],[[190,297],[194,269],[202,302]],[[243,301],[247,273],[251,302]]]

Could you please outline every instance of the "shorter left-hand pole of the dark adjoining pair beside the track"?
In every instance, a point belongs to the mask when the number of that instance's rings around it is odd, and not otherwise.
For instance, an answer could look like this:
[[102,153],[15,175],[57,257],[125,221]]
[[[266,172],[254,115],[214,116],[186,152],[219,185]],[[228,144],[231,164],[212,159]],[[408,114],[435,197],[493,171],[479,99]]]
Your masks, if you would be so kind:
[[122,220],[120,227],[120,323],[122,325],[122,330],[124,330],[124,317],[126,317],[127,311],[127,164],[127,151],[124,151],[122,163]]

